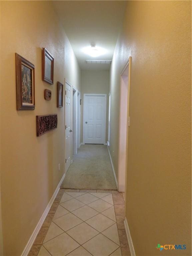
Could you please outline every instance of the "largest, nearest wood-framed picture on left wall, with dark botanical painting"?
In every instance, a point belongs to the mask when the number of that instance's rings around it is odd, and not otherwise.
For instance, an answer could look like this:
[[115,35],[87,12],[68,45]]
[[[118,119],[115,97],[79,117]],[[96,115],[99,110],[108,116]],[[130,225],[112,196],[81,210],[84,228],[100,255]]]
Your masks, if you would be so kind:
[[17,110],[35,109],[35,66],[15,53]]

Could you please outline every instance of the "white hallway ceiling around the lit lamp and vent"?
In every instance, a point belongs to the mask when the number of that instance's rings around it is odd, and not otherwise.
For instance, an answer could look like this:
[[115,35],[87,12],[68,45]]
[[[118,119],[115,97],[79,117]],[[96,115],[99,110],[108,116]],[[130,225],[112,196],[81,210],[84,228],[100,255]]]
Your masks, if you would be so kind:
[[[110,64],[85,60],[112,60],[127,1],[53,1],[81,69],[109,69]],[[82,48],[94,43],[107,50],[90,57]]]

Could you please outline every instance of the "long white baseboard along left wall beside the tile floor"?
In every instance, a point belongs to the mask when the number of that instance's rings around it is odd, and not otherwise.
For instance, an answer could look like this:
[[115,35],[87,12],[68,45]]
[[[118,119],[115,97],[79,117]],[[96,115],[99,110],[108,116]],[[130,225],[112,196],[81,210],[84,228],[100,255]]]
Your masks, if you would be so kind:
[[29,238],[29,241],[28,241],[27,245],[25,246],[25,249],[23,250],[21,256],[27,256],[28,253],[29,253],[29,251],[31,250],[31,247],[32,247],[32,245],[33,245],[33,243],[34,243],[34,241],[35,241],[35,239],[36,239],[36,236],[38,235],[39,230],[40,230],[40,228],[41,228],[41,226],[42,226],[42,224],[43,224],[45,218],[47,217],[47,214],[48,214],[48,212],[49,212],[49,210],[50,210],[50,208],[51,208],[52,203],[54,202],[54,200],[55,200],[55,198],[56,198],[56,196],[57,196],[57,193],[59,192],[60,186],[61,186],[61,184],[62,184],[64,178],[65,178],[65,174],[64,174],[63,177],[61,178],[61,180],[60,180],[60,182],[59,182],[59,184],[58,184],[58,186],[57,186],[57,188],[56,188],[56,190],[55,190],[55,192],[54,192],[54,194],[53,194],[51,200],[49,201],[49,203],[48,203],[48,205],[47,205],[47,207],[46,207],[46,209],[45,209],[43,215],[41,216],[41,218],[40,218],[40,220],[39,220],[39,222],[38,222],[36,228],[34,229],[34,231],[33,231],[32,235],[31,235],[31,237]]

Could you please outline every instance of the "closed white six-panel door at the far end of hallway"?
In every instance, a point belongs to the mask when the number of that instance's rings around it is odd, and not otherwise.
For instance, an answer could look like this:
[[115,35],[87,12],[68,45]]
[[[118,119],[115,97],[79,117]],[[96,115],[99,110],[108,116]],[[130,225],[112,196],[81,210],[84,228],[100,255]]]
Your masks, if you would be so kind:
[[106,94],[84,94],[84,143],[105,144]]

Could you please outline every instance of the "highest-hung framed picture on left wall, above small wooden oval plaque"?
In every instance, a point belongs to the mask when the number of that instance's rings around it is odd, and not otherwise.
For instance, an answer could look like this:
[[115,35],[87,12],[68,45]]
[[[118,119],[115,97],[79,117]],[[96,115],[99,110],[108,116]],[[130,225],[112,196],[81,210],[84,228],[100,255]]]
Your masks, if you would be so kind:
[[54,58],[47,51],[47,49],[43,48],[42,50],[42,80],[53,84],[53,64]]

